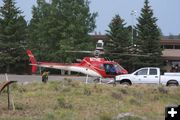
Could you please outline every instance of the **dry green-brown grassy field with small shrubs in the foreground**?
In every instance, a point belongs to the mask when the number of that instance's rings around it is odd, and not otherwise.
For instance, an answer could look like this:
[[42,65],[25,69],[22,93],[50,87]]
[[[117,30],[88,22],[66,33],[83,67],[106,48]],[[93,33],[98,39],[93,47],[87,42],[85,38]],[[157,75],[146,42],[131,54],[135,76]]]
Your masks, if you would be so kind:
[[73,80],[11,86],[15,111],[0,96],[0,120],[164,120],[165,106],[180,104],[180,87],[85,84]]

